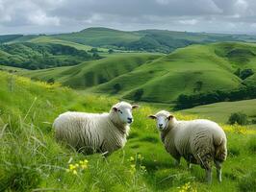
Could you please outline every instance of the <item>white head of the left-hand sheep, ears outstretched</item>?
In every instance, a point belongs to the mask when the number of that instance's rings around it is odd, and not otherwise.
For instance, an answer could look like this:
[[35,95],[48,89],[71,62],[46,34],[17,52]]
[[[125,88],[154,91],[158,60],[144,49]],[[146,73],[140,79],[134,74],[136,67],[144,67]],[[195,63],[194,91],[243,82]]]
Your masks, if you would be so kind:
[[115,115],[118,117],[122,124],[132,124],[134,121],[132,109],[139,108],[139,106],[131,106],[126,102],[120,102],[113,107]]

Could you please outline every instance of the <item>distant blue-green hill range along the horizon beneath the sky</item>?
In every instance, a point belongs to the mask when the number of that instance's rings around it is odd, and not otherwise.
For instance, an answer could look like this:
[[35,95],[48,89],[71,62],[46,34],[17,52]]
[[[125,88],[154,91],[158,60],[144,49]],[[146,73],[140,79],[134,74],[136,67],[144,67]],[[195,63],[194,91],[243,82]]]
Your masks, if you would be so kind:
[[[0,36],[0,42],[1,37],[6,38],[5,36]],[[59,42],[60,40],[63,40],[65,43],[72,42],[76,43],[77,45],[82,44],[86,46],[116,49],[122,51],[145,51],[161,53],[170,53],[177,48],[186,47],[192,44],[204,44],[209,42],[256,42],[256,36],[247,35],[190,33],[167,30],[141,30],[125,32],[102,27],[87,28],[80,32],[51,36],[13,36],[9,40],[5,40],[5,42],[49,42],[49,37],[51,38],[51,41],[55,41],[55,43],[58,40]]]

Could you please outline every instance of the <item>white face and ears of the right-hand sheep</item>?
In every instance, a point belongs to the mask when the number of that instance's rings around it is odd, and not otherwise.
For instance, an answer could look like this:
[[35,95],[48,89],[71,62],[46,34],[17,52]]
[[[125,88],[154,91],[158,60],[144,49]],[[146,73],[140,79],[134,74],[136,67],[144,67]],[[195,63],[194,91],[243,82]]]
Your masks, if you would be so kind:
[[149,115],[148,117],[155,119],[158,130],[163,132],[168,128],[169,121],[172,119],[173,115],[169,114],[166,110],[161,110],[155,115]]

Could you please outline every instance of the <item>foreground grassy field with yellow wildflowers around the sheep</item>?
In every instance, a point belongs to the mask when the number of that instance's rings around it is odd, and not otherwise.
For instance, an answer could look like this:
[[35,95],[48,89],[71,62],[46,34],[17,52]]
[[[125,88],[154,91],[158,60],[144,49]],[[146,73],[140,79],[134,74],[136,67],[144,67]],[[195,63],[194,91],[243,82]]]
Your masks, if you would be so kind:
[[[0,191],[253,191],[256,132],[223,126],[228,158],[223,181],[203,182],[198,166],[174,166],[165,152],[148,105],[135,111],[127,145],[107,159],[83,156],[56,143],[52,122],[66,110],[108,111],[117,100],[78,94],[59,84],[31,82],[0,72]],[[176,114],[179,119],[195,116]],[[70,164],[80,163],[77,174]],[[69,170],[69,171],[68,171]],[[214,174],[216,176],[216,174]]]

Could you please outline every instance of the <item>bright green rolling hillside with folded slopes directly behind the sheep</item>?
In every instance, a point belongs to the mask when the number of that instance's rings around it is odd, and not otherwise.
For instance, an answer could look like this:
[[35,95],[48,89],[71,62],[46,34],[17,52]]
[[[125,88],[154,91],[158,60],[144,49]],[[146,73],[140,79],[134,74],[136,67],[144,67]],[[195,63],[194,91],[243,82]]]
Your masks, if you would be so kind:
[[[192,45],[161,57],[116,54],[77,66],[21,74],[43,81],[54,78],[61,84],[94,93],[171,104],[181,94],[230,91],[255,85],[255,53],[253,43],[214,43]],[[139,59],[144,57],[147,59]],[[254,74],[242,79],[240,74],[246,69]],[[238,70],[240,74],[235,74]]]

